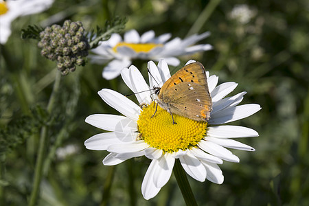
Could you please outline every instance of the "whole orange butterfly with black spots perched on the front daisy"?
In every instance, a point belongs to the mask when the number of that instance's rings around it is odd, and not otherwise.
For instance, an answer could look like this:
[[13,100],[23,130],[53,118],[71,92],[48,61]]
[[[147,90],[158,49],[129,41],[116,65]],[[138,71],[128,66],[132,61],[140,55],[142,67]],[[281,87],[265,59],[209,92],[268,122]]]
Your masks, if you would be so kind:
[[206,72],[200,62],[191,63],[177,71],[161,89],[155,88],[155,93],[157,104],[171,114],[203,122],[210,117],[211,96]]

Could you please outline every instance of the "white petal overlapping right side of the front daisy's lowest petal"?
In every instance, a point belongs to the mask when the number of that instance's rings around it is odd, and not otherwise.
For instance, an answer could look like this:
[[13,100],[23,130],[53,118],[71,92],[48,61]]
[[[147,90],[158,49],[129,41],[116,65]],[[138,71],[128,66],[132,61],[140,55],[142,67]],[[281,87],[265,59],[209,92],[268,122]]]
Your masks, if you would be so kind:
[[153,179],[155,187],[161,188],[168,183],[170,175],[172,174],[174,163],[175,158],[170,153],[165,153],[165,155],[159,159],[159,167],[156,168]]

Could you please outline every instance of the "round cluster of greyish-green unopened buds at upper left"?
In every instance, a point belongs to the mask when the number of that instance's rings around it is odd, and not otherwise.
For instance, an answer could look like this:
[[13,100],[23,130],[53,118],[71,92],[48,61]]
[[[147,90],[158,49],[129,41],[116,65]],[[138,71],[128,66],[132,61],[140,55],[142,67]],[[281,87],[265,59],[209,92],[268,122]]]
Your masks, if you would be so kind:
[[38,42],[42,56],[57,61],[57,67],[63,75],[75,71],[76,65],[84,66],[84,57],[88,55],[89,43],[84,36],[84,27],[80,21],[65,21],[63,26],[52,25],[40,33]]

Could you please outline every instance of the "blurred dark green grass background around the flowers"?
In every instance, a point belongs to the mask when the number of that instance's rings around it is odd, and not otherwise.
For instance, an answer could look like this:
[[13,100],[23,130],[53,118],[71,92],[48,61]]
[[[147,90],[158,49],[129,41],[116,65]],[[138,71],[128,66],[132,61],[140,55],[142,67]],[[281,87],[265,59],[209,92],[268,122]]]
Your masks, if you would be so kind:
[[[229,17],[242,3],[255,11],[249,23]],[[308,9],[305,0],[56,0],[41,14],[16,19],[0,55],[0,205],[29,202],[43,126],[49,130],[38,205],[185,205],[174,176],[146,201],[141,181],[147,161],[104,166],[107,152],[84,148],[86,139],[102,132],[84,119],[94,113],[117,114],[97,92],[111,88],[130,93],[122,79],[104,80],[102,65],[78,67],[61,78],[56,106],[49,114],[56,63],[40,55],[37,41],[20,38],[21,29],[30,24],[62,25],[71,19],[91,30],[114,16],[126,16],[126,30],[140,34],[155,30],[157,35],[185,38],[210,31],[201,43],[210,43],[214,50],[183,56],[181,65],[199,60],[219,82],[238,82],[233,94],[247,91],[242,104],[262,106],[252,117],[233,122],[257,130],[260,137],[240,139],[256,151],[233,150],[240,163],[220,165],[222,185],[189,177],[198,205],[309,205]],[[146,61],[133,64],[146,74]],[[179,67],[170,68],[174,72]],[[67,146],[75,152],[60,156]]]

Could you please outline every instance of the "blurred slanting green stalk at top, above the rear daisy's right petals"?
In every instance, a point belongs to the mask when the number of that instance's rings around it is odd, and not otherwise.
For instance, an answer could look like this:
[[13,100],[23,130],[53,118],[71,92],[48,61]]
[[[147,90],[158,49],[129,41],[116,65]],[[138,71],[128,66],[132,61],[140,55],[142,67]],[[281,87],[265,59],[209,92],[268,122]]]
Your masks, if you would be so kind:
[[209,19],[209,16],[211,16],[212,12],[216,9],[218,4],[220,3],[221,0],[211,0],[201,12],[200,16],[198,16],[198,19],[194,22],[192,27],[190,28],[189,32],[187,32],[187,36],[191,36],[192,34],[198,33],[205,22]]

